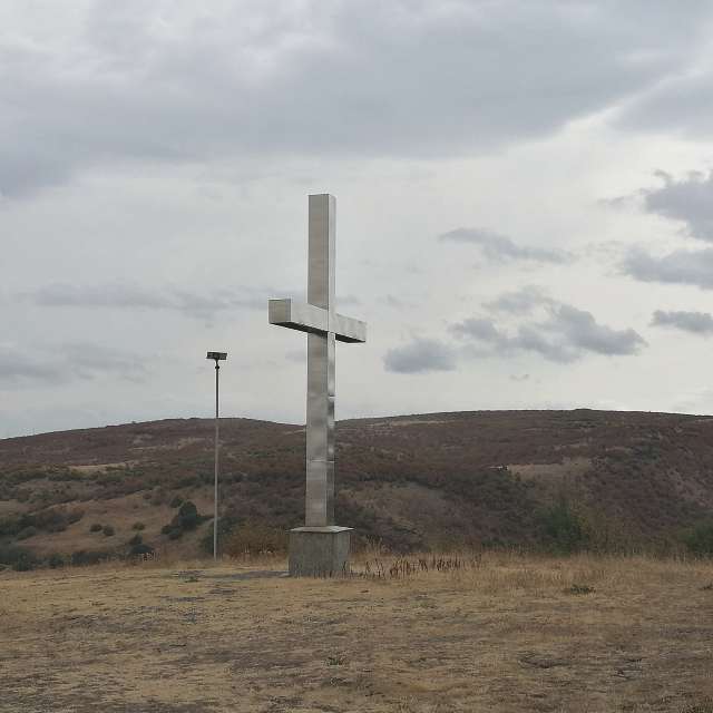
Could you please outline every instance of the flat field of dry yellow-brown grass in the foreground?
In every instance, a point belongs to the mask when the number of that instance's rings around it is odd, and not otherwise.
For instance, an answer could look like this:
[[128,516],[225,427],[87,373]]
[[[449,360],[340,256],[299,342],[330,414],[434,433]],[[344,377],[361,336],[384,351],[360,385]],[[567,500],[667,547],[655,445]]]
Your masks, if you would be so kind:
[[391,561],[0,573],[0,710],[713,711],[713,563]]

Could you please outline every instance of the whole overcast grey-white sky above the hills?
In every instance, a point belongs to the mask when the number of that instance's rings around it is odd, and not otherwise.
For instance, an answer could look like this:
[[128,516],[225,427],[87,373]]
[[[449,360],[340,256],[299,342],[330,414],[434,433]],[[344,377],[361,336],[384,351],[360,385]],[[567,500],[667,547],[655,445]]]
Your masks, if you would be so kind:
[[713,6],[0,2],[0,437],[304,421],[307,194],[338,418],[713,412]]

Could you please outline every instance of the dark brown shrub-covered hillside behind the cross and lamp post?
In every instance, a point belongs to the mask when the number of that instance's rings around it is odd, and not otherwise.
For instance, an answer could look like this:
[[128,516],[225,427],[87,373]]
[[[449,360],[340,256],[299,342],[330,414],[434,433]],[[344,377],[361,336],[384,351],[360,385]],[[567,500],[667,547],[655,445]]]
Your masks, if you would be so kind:
[[[222,443],[226,530],[299,525],[304,427],[223,419]],[[150,547],[193,556],[207,517],[173,535],[162,528],[180,500],[211,514],[212,481],[211,420],[0,440],[0,546],[42,557],[126,551],[140,533]],[[540,543],[559,537],[547,512],[565,518],[566,536],[574,514],[575,539],[607,549],[666,547],[713,512],[713,418],[575,410],[342,421],[338,488],[340,524],[398,550]]]

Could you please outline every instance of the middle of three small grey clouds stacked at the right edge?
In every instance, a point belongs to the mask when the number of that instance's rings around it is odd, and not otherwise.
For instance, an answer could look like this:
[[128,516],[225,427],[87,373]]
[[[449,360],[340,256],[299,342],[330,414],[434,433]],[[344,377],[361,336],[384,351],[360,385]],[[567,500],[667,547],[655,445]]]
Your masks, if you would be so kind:
[[625,274],[642,282],[695,285],[713,290],[713,248],[678,250],[662,257],[632,250],[622,263]]

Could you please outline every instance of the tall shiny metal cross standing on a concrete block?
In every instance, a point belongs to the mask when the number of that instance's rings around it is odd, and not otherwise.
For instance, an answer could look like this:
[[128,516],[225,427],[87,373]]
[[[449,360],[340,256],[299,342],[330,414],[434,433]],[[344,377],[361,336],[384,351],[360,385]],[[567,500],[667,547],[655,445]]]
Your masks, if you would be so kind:
[[335,341],[367,341],[364,322],[334,311],[334,196],[310,196],[307,302],[268,302],[271,324],[307,332],[307,527],[334,525]]

